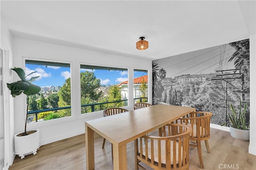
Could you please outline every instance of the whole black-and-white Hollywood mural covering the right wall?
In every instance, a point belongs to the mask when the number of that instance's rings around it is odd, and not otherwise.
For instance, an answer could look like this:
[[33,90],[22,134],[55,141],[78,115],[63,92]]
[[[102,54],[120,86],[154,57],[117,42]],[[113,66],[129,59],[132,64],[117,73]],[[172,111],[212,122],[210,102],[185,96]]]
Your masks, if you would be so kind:
[[210,111],[211,123],[222,125],[241,98],[249,123],[249,63],[249,39],[152,61],[153,104]]

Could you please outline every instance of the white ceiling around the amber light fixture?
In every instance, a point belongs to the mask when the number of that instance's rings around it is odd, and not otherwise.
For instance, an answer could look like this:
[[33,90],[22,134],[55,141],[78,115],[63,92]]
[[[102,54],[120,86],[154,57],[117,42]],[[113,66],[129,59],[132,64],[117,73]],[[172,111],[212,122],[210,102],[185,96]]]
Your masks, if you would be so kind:
[[[1,0],[14,37],[142,59],[161,59],[249,38],[255,0]],[[136,49],[144,36],[148,49]]]

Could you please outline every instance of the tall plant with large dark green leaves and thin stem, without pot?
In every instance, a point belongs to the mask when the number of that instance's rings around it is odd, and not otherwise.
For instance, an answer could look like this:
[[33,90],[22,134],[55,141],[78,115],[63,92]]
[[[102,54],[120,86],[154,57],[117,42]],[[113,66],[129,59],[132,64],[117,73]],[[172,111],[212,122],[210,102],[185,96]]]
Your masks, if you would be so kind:
[[27,135],[26,127],[27,127],[27,119],[28,119],[28,99],[29,99],[29,96],[37,94],[41,90],[40,86],[32,84],[31,82],[33,82],[40,76],[31,77],[29,80],[26,80],[26,77],[36,73],[37,71],[31,72],[30,74],[25,76],[25,72],[22,68],[15,67],[15,68],[12,68],[12,70],[14,70],[18,74],[21,80],[10,83],[10,84],[7,83],[7,87],[11,91],[12,97],[15,98],[16,96],[22,93],[25,94],[27,97],[27,112],[26,112],[26,121],[25,121],[25,129],[24,129],[24,135]]

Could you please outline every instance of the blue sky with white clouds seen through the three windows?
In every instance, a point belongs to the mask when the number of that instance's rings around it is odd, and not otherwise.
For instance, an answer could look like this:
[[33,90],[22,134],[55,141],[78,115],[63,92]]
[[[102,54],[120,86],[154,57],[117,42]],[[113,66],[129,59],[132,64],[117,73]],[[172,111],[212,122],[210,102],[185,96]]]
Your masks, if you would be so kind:
[[[37,71],[31,76],[40,76],[33,83],[43,87],[43,86],[62,86],[67,78],[70,77],[70,68],[58,67],[58,66],[43,66],[36,64],[26,64],[26,75],[32,71]],[[86,70],[81,69],[81,72],[90,71],[93,72],[96,78],[100,79],[102,85],[113,85],[119,84],[128,80],[127,71],[118,70]],[[144,76],[144,72],[134,72],[134,77]],[[27,78],[29,79],[29,77]]]

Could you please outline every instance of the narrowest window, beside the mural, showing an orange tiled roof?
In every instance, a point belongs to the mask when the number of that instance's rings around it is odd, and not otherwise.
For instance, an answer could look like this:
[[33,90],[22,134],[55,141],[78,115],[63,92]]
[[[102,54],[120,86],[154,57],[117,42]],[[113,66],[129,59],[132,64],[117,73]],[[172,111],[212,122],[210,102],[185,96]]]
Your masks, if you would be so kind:
[[148,102],[148,71],[134,70],[134,103]]

